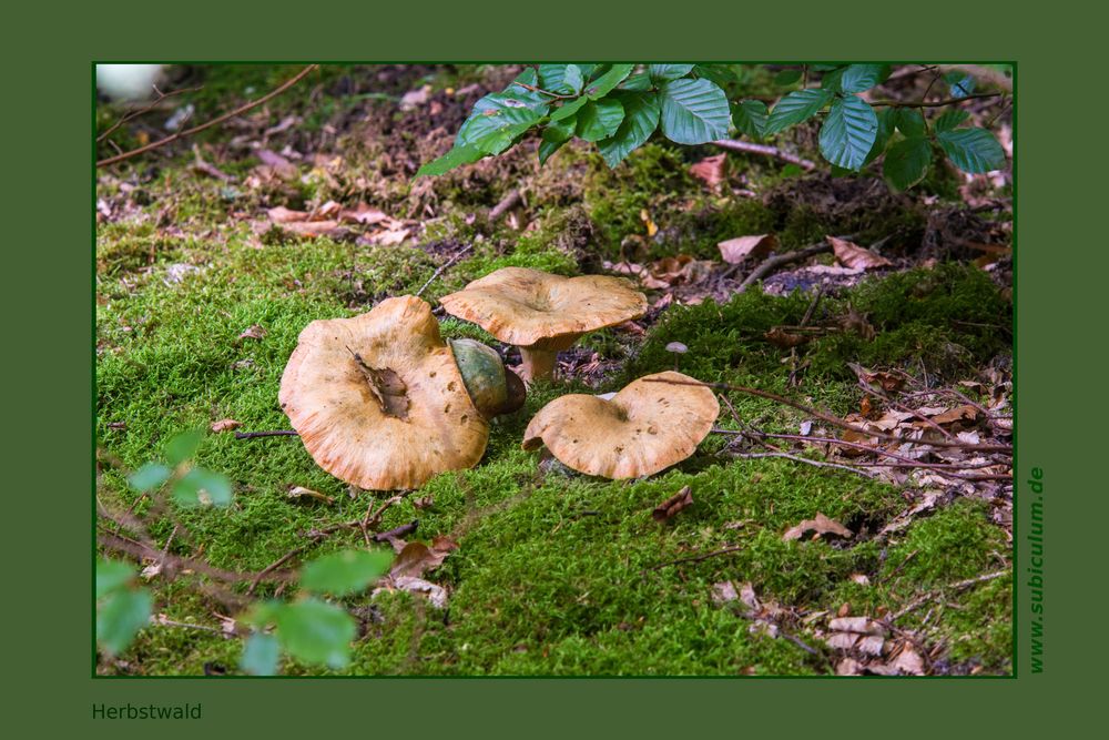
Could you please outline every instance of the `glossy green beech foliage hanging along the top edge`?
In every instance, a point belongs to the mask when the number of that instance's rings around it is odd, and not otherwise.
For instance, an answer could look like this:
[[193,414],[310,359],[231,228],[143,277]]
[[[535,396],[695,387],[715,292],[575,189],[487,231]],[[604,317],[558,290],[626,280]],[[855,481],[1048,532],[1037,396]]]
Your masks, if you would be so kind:
[[[424,164],[420,175],[496,155],[540,131],[539,162],[546,164],[568,141],[596,143],[614,168],[658,130],[679,144],[723,139],[729,129],[756,141],[821,116],[820,151],[836,175],[857,172],[883,154],[886,182],[907,190],[927,178],[933,153],[943,152],[966,172],[1005,165],[1005,154],[985,129],[958,129],[964,111],[946,111],[929,130],[924,108],[869,103],[858,97],[889,77],[888,64],[810,64],[818,88],[793,90],[773,108],[761,100],[729,102],[735,83],[749,79],[725,64],[540,64],[525,70],[502,92],[479,100],[462,123],[455,148]],[[774,83],[795,84],[801,69],[785,69]],[[975,80],[965,72],[945,75],[953,101],[970,95]],[[882,110],[875,110],[879,108]],[[904,139],[896,139],[894,132]],[[935,142],[938,148],[928,142]]]

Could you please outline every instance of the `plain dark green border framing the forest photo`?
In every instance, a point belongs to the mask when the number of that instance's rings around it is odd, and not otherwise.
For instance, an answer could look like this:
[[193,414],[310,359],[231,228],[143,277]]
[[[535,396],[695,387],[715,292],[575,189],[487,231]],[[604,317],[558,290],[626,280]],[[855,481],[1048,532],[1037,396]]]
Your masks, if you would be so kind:
[[[1101,24],[1052,3],[20,3],[6,13],[3,712],[18,737],[1062,732],[1103,695]],[[803,23],[798,26],[797,23]],[[91,62],[1016,60],[1018,479],[1046,472],[1046,672],[1016,680],[90,678]],[[1099,161],[1100,160],[1100,161]],[[1091,351],[1092,348],[1092,351]],[[1103,406],[1103,403],[1100,404]],[[1089,483],[1083,483],[1085,478]],[[1026,493],[1025,486],[1018,494]],[[1028,496],[1018,497],[1024,525]],[[1019,537],[1018,537],[1019,540]],[[1018,561],[1018,572],[1025,564]],[[202,701],[202,722],[91,719]]]

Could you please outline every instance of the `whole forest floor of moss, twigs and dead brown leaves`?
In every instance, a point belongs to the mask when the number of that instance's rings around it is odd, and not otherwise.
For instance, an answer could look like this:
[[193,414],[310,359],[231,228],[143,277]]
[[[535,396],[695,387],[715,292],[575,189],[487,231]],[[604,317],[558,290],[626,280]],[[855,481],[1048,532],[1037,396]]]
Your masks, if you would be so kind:
[[[186,103],[202,122],[296,69],[186,70],[179,87],[203,90],[111,138],[122,149],[161,138]],[[446,604],[399,589],[348,597],[362,626],[350,665],[288,661],[283,672],[1010,673],[1013,501],[1003,476],[1011,459],[949,448],[916,460],[932,467],[892,467],[873,447],[821,442],[848,437],[813,414],[726,391],[718,426],[731,434],[710,434],[692,457],[645,479],[593,479],[520,448],[528,419],[557,396],[614,391],[675,366],[875,429],[1011,442],[1007,175],[967,180],[938,168],[894,194],[866,173],[833,178],[823,163],[803,172],[742,153],[691,170],[722,152],[667,143],[614,170],[592,149],[567,146],[540,169],[526,141],[410,186],[472,103],[515,71],[324,68],[223,126],[98,172],[101,504],[142,514],[146,501],[126,476],[183,429],[222,419],[240,430],[289,428],[278,383],[314,320],[421,288],[437,306],[510,265],[622,273],[642,283],[648,315],[563,353],[563,379],[532,387],[522,409],[494,422],[479,465],[437,476],[376,523],[418,520],[409,539],[457,544],[426,576]],[[747,74],[750,89],[780,94],[772,75]],[[120,111],[100,108],[103,131]],[[818,160],[804,126],[783,145]],[[102,156],[112,153],[101,144]],[[362,217],[336,217],[338,209]],[[779,252],[849,235],[891,264],[848,270],[821,254],[741,292],[762,259],[724,263],[718,243],[767,233]],[[518,362],[474,325],[436,315],[444,336],[482,339]],[[668,352],[673,342],[688,352]],[[885,388],[865,391],[867,378]],[[348,489],[296,437],[208,432],[196,459],[232,479],[234,503],[176,510],[151,534],[164,546],[176,530],[169,551],[226,570],[258,571],[302,546],[287,565],[359,546],[357,529],[309,533],[389,497]],[[655,506],[684,486],[692,505],[657,521]],[[292,498],[293,487],[328,500]],[[818,515],[841,527],[785,536]],[[183,579],[147,586],[165,624],[123,655],[101,656],[99,672],[238,670],[242,642],[222,631],[235,615]],[[274,584],[257,591],[274,592]],[[865,618],[851,622],[858,633],[833,624],[845,617]]]

